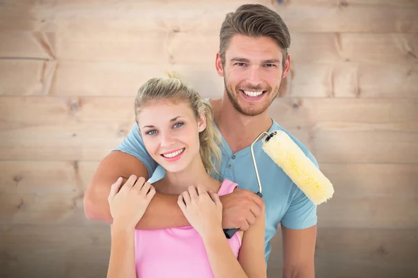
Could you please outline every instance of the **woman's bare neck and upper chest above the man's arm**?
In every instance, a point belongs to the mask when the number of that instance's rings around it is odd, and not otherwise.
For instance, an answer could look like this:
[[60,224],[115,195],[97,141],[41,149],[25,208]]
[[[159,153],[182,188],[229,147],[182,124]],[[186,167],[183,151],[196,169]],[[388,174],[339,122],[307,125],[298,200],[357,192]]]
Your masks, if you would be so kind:
[[161,188],[167,194],[183,193],[189,186],[201,184],[208,190],[217,193],[221,183],[208,175],[199,154],[181,172],[166,172]]

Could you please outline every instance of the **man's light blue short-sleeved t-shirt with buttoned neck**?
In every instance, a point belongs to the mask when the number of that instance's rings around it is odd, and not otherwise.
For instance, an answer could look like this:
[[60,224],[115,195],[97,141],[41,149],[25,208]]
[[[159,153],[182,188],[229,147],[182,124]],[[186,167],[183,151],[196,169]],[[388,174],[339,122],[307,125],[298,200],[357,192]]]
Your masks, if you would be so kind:
[[[215,125],[216,126],[216,125]],[[217,128],[217,127],[216,127]],[[219,129],[218,129],[219,130]],[[275,130],[285,131],[318,167],[314,156],[307,147],[273,121],[268,133]],[[247,147],[233,154],[222,136],[222,163],[219,172],[224,179],[238,183],[238,188],[258,192],[258,181],[251,156],[251,148]],[[254,144],[254,156],[260,177],[263,199],[265,202],[265,261],[271,252],[270,240],[277,232],[279,223],[290,229],[305,229],[317,222],[316,205],[307,198],[288,175],[265,154],[262,140]],[[150,182],[164,177],[165,170],[148,154],[144,142],[139,136],[137,124],[132,126],[130,133],[115,150],[136,156],[148,169]]]

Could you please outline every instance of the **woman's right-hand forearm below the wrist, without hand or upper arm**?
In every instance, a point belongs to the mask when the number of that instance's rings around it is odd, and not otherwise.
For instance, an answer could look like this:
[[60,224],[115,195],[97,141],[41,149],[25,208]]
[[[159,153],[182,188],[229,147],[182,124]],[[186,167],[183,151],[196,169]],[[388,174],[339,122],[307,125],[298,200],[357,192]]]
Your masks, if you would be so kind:
[[215,277],[248,278],[233,254],[222,229],[212,231],[212,233],[202,238]]

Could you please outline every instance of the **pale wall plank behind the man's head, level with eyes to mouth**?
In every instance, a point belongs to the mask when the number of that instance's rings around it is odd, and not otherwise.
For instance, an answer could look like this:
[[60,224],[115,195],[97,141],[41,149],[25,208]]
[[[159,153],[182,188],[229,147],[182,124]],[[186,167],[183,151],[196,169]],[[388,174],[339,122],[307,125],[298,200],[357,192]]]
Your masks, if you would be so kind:
[[[0,95],[134,97],[143,83],[164,76],[166,70],[182,74],[204,98],[223,95],[224,79],[217,75],[212,63],[144,65],[44,60],[0,60],[0,72],[4,72],[0,75]],[[280,95],[417,98],[418,64],[291,62],[291,72],[283,81]]]

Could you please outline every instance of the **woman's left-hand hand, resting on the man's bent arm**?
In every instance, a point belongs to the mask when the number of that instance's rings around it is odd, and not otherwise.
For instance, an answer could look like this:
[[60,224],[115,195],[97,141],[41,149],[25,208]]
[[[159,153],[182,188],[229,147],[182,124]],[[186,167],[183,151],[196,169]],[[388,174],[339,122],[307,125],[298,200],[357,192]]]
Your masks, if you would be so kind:
[[110,213],[114,225],[135,229],[155,195],[155,188],[145,182],[144,177],[137,179],[135,175],[130,176],[121,188],[122,181],[123,179],[119,178],[111,186],[107,198]]

